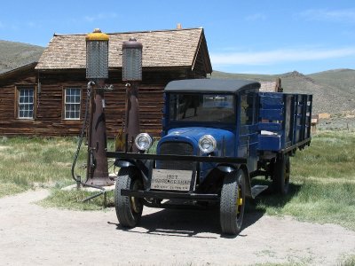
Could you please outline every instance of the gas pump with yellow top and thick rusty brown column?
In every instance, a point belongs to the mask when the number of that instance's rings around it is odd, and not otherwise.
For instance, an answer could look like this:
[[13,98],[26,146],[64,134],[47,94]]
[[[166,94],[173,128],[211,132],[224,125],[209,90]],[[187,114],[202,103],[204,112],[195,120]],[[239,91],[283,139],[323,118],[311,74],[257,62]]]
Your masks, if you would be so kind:
[[108,35],[95,29],[86,35],[86,78],[90,81],[90,120],[88,130],[87,179],[85,184],[113,185],[106,158],[106,119],[104,113],[108,78]]

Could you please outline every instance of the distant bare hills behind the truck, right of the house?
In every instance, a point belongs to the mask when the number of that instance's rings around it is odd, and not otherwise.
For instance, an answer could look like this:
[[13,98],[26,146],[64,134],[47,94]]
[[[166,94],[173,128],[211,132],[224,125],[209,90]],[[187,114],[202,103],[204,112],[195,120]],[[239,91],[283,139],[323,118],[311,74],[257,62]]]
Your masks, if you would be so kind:
[[297,71],[285,74],[229,74],[214,71],[211,78],[274,82],[281,78],[285,92],[313,94],[312,113],[355,112],[355,70],[334,69],[315,74]]

